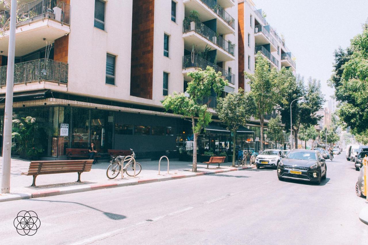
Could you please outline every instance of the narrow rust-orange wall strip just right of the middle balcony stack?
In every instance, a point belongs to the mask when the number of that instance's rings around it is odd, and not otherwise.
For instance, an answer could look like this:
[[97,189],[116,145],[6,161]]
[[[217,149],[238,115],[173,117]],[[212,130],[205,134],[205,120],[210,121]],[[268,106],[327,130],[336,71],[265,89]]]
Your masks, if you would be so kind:
[[238,88],[244,89],[244,2],[238,4]]

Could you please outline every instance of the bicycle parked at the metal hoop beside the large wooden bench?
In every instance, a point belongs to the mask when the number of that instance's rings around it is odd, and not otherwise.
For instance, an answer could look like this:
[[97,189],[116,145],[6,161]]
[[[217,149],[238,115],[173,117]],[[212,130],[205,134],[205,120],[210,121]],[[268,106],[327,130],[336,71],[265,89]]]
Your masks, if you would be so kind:
[[[142,166],[141,164],[135,161],[135,153],[132,149],[130,150],[132,151],[132,155],[130,156],[116,156],[116,157],[111,156],[112,159],[110,161],[110,165],[109,167],[107,167],[107,170],[106,170],[107,178],[112,180],[116,178],[117,175],[119,175],[121,171],[123,171],[123,174],[126,173],[129,176],[134,176],[134,163],[135,163],[135,175],[138,175],[139,173],[141,173]],[[128,162],[127,164],[125,164],[125,167],[124,167],[125,161],[128,161]],[[121,170],[121,166],[123,166],[123,170]]]

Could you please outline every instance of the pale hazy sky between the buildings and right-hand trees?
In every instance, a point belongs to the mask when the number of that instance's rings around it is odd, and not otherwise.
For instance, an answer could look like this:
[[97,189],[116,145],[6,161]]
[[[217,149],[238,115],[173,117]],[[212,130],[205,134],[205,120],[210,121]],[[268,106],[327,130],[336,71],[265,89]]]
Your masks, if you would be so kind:
[[333,69],[334,50],[346,48],[362,32],[368,18],[368,0],[253,0],[257,9],[296,57],[296,72],[321,80],[325,99],[334,90],[327,85]]

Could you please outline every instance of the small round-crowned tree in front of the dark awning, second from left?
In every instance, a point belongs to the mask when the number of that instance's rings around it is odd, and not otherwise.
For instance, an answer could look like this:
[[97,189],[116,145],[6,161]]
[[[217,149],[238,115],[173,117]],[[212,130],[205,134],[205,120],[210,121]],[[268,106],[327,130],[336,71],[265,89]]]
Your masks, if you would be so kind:
[[240,126],[245,126],[255,110],[255,104],[249,92],[244,93],[239,89],[238,93],[229,93],[225,98],[217,101],[216,113],[226,128],[234,133],[233,140],[233,167],[235,167],[235,142],[236,131]]

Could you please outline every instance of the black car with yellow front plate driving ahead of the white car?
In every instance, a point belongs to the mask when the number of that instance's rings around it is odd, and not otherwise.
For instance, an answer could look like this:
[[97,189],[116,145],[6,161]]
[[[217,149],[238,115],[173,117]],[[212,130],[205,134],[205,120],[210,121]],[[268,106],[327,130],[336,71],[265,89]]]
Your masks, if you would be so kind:
[[304,180],[321,184],[326,179],[326,160],[316,150],[292,150],[277,167],[277,178]]

